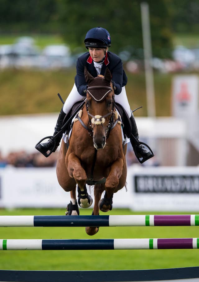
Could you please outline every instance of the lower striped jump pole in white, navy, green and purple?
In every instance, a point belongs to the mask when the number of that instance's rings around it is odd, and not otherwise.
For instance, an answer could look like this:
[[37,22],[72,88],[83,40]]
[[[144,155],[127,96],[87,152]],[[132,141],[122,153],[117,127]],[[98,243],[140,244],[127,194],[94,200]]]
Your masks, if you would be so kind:
[[199,249],[199,238],[160,239],[0,239],[0,250]]

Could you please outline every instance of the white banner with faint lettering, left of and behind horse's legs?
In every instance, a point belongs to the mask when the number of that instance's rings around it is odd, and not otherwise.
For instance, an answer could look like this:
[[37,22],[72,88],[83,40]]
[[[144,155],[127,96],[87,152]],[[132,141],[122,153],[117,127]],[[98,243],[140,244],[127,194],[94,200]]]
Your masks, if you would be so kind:
[[[87,190],[94,202],[93,188],[89,186]],[[131,199],[128,194],[130,192],[125,188],[118,191],[114,195],[114,207],[129,207]],[[0,169],[0,207],[66,208],[68,203],[70,192],[65,192],[58,184],[55,167]]]

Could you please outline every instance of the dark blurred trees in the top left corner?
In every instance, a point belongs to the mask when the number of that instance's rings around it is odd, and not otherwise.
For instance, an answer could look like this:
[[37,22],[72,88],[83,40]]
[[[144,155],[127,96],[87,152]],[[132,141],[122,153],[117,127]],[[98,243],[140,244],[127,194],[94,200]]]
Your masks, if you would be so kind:
[[56,0],[0,0],[0,31],[43,31],[45,24],[56,23],[57,3]]

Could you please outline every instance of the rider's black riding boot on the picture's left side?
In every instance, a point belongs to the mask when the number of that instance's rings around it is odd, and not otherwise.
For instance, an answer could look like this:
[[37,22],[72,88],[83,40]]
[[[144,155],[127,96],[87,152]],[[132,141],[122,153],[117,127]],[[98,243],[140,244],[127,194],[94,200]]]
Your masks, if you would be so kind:
[[[63,111],[63,107],[61,109],[61,112],[59,114],[59,117],[58,117],[58,120],[57,120],[57,124],[55,126],[55,131],[54,131],[54,134],[53,134],[53,137],[59,132],[61,131],[61,128],[62,128],[62,122],[64,120],[64,117],[65,117],[65,112]],[[59,143],[62,139],[62,136],[63,136],[63,132],[61,131],[55,138],[54,138],[54,142],[52,139],[49,139],[47,142],[45,143],[39,143],[38,145],[35,146],[35,148],[40,151],[40,152],[43,152],[43,153],[46,153],[47,151],[51,151],[54,144],[55,144],[55,148],[53,150],[53,152],[55,152],[59,146]]]

